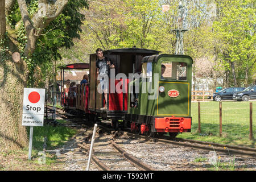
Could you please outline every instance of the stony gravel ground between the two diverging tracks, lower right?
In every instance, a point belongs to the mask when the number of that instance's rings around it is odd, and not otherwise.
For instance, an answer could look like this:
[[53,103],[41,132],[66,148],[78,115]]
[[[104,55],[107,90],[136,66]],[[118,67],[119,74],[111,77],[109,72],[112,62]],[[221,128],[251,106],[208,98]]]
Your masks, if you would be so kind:
[[209,170],[217,169],[218,164],[218,169],[224,170],[233,168],[256,170],[254,158],[220,155],[214,151],[209,152],[172,144],[136,140],[125,135],[115,142],[120,144],[129,154],[160,171]]

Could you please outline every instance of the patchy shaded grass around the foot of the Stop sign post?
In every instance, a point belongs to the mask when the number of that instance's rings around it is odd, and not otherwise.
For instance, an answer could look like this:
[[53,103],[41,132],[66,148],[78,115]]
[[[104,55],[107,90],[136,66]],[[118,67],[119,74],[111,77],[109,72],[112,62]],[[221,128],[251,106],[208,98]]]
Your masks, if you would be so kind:
[[[65,123],[63,119],[58,120]],[[30,127],[27,127],[28,137]],[[43,150],[44,137],[47,137],[47,150],[54,150],[62,147],[77,130],[63,126],[34,127],[32,141],[32,159],[28,160],[28,146],[22,150],[0,151],[0,171],[52,171],[63,170],[61,160],[57,160],[55,154],[46,152],[46,163],[39,164],[39,151]]]

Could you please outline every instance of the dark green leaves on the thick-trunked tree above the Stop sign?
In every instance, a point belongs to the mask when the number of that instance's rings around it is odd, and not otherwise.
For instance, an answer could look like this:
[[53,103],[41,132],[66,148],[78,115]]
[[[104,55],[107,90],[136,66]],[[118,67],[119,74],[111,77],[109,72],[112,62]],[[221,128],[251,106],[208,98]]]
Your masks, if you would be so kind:
[[[28,14],[32,16],[38,11],[38,0],[27,0]],[[53,80],[53,60],[61,58],[60,47],[70,48],[73,39],[80,38],[80,26],[84,15],[80,9],[88,8],[83,0],[69,1],[62,13],[43,30],[36,42],[36,49],[31,59],[25,59],[28,65],[28,87],[44,87],[45,80]],[[13,12],[7,17],[11,28],[15,29],[19,42],[19,50],[23,53],[27,43],[27,34],[21,20],[18,3],[15,2]],[[16,27],[15,27],[16,26]]]

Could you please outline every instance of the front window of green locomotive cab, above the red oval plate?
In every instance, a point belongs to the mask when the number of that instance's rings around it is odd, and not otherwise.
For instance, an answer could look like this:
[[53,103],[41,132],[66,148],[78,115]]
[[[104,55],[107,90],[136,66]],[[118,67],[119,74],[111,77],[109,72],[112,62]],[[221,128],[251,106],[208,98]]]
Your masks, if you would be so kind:
[[187,80],[187,63],[162,61],[161,80]]

